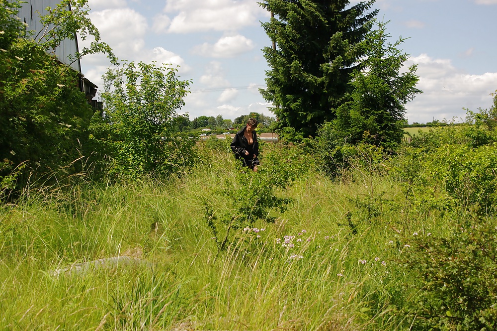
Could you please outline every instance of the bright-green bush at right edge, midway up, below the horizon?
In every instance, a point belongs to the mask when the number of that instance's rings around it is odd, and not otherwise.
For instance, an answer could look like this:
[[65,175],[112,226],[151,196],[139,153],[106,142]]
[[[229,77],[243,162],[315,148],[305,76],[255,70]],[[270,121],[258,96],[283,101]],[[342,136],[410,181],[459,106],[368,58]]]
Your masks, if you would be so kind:
[[438,210],[454,207],[479,214],[497,207],[497,131],[494,110],[468,111],[460,125],[419,132],[398,149],[391,174],[414,204]]

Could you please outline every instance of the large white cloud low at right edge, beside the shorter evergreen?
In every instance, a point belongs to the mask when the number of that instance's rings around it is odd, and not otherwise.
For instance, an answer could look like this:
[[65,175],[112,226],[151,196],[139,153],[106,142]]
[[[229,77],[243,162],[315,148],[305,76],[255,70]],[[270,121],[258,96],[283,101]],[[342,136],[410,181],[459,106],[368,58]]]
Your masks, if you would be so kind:
[[455,68],[450,60],[433,59],[427,54],[412,57],[409,62],[418,64],[417,88],[423,91],[406,105],[410,122],[464,117],[463,108],[477,110],[491,105],[489,94],[496,89],[497,73],[467,74]]

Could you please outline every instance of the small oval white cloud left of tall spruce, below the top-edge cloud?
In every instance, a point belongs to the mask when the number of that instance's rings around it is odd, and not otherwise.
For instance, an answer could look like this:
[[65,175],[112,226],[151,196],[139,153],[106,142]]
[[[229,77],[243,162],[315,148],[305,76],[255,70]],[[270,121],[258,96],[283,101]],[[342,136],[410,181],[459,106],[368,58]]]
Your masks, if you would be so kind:
[[219,39],[214,45],[204,43],[195,46],[193,53],[215,58],[235,57],[252,50],[253,41],[245,36],[237,34],[234,36],[225,36]]

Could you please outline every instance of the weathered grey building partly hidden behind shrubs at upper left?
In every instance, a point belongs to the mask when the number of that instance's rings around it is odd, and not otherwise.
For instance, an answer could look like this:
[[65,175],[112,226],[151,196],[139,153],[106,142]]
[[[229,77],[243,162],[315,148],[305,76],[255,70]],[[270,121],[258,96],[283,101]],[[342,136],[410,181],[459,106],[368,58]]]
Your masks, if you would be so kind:
[[[61,2],[60,0],[24,0],[26,3],[22,3],[22,7],[19,9],[19,13],[17,16],[21,19],[22,22],[27,24],[27,29],[34,31],[33,37],[41,31],[44,27],[40,22],[40,15],[46,15],[48,11],[47,7],[55,8]],[[71,10],[71,5],[68,6],[68,9]],[[38,36],[38,38],[41,37]],[[75,58],[76,53],[79,51],[78,48],[78,38],[75,35],[74,40],[66,39],[64,40],[59,47],[57,47],[54,51],[57,59],[65,64],[70,66],[74,71],[78,73],[80,80],[78,82],[78,86],[80,87],[81,92],[84,93],[86,100],[88,101],[93,108],[102,108],[101,103],[96,100],[92,100],[96,96],[96,91],[98,87],[91,83],[88,79],[86,79],[81,72],[81,62],[80,59],[76,61],[71,61],[69,59],[70,56]]]

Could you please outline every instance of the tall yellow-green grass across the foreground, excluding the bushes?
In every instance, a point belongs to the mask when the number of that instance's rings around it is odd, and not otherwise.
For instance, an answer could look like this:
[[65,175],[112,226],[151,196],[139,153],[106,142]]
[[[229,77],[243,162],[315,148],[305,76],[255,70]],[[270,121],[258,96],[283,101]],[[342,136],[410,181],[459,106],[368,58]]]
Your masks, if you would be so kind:
[[[332,181],[311,170],[280,192],[292,202],[275,223],[258,221],[264,231],[241,232],[218,255],[203,201],[229,210],[219,190],[236,185],[237,170],[212,153],[181,178],[47,188],[3,206],[0,329],[409,329],[389,307],[409,300],[390,241],[443,222],[403,210],[388,177],[357,168]],[[285,235],[294,237],[283,246]],[[52,275],[118,255],[153,268]]]

